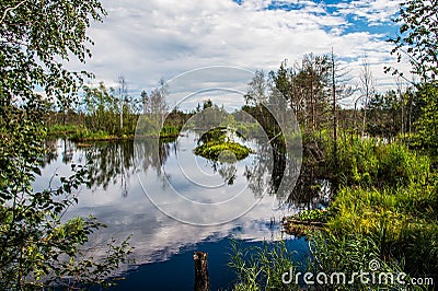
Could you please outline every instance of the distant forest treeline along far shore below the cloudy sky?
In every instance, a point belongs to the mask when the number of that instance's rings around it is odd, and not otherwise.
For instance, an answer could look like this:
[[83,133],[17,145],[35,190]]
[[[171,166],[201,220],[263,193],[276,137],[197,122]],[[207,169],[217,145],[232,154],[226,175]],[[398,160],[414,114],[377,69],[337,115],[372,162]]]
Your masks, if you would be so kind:
[[[359,80],[348,78],[350,73],[350,69],[342,66],[333,53],[304,55],[300,62],[290,66],[284,60],[276,71],[267,74],[264,71],[255,72],[249,83],[242,110],[255,118],[260,116],[256,119],[263,121],[266,118],[262,116],[268,113],[260,106],[263,107],[263,102],[281,96],[288,101],[285,106],[293,109],[303,133],[331,130],[335,135],[341,130],[343,135],[385,140],[402,138],[412,146],[430,148],[435,144],[424,131],[425,127],[435,128],[429,125],[434,118],[426,117],[425,113],[434,106],[428,102],[428,96],[435,94],[434,86],[427,82],[413,83],[394,77],[395,88],[379,93],[366,58],[359,68]],[[139,96],[132,96],[122,75],[117,88],[107,88],[103,82],[84,85],[81,95],[76,106],[68,108],[59,109],[54,103],[45,117],[49,133],[67,133],[77,140],[131,139],[138,118],[142,115],[159,123],[157,127],[162,127],[162,137],[177,136],[191,116],[212,106],[211,101],[206,98],[189,112],[178,108],[170,112],[164,80],[160,80],[157,89],[149,94],[145,90]]]

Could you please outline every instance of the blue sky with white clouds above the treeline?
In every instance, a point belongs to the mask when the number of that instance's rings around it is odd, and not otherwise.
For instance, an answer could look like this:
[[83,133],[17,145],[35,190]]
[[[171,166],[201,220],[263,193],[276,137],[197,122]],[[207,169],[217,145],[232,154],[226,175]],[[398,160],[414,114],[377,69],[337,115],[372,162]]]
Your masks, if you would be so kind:
[[[395,84],[383,67],[396,65],[389,37],[399,0],[105,0],[108,15],[93,23],[93,57],[84,69],[93,83],[116,86],[124,75],[131,95],[150,92],[160,79],[210,66],[277,70],[285,59],[333,48],[359,82],[364,58],[379,92]],[[71,62],[73,69],[82,66]],[[397,65],[407,71],[405,63]]]

